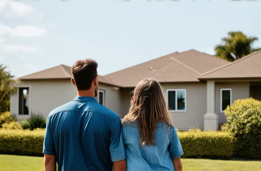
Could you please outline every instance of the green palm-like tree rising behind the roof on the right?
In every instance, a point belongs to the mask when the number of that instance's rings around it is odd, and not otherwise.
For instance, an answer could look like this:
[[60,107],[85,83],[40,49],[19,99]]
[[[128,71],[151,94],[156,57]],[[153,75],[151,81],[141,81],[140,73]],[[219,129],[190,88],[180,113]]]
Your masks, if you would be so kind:
[[215,47],[215,56],[228,61],[240,59],[254,51],[261,50],[261,48],[252,48],[257,37],[247,37],[242,32],[228,32],[228,37],[222,39],[221,45]]

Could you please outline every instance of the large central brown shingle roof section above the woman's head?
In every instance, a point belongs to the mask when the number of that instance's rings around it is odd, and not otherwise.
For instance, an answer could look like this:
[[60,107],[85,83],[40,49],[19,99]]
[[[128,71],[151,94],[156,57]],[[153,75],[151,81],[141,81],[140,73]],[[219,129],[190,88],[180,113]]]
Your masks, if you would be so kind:
[[161,83],[200,82],[200,74],[229,62],[195,50],[175,52],[148,62],[105,75],[111,84],[135,87],[145,78],[155,78]]

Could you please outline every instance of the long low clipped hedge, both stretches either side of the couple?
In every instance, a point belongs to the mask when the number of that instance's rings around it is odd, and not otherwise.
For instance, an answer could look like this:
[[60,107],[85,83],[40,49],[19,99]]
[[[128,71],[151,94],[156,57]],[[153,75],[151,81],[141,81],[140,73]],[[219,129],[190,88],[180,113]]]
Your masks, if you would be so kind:
[[[28,156],[43,156],[45,129],[5,130],[0,129],[0,153]],[[233,136],[217,131],[178,131],[184,151],[182,157],[229,158],[233,156]]]

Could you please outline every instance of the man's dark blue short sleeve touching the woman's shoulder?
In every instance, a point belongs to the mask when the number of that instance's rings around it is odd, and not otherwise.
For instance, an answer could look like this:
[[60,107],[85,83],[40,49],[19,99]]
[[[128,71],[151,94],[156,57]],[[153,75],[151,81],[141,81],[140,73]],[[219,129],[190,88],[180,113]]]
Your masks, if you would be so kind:
[[122,125],[120,117],[117,117],[112,125],[109,141],[111,161],[115,162],[125,159],[126,155],[122,140]]

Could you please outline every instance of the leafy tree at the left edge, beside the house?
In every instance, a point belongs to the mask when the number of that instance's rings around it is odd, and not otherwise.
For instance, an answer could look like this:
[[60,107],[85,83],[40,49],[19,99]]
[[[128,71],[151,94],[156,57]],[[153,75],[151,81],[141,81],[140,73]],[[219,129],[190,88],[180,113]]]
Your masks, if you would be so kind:
[[10,72],[5,71],[6,66],[0,64],[0,113],[10,110],[10,95],[15,93],[13,77]]

